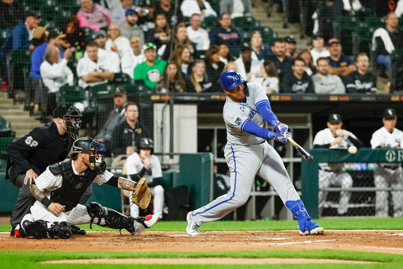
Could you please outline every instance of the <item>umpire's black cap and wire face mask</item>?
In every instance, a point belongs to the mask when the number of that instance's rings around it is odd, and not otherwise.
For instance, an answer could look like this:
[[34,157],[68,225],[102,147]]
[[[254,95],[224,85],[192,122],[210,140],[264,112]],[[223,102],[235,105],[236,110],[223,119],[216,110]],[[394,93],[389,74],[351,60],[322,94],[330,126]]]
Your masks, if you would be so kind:
[[53,112],[53,118],[62,118],[66,120],[66,129],[70,136],[76,140],[81,127],[81,111],[70,103],[60,104]]

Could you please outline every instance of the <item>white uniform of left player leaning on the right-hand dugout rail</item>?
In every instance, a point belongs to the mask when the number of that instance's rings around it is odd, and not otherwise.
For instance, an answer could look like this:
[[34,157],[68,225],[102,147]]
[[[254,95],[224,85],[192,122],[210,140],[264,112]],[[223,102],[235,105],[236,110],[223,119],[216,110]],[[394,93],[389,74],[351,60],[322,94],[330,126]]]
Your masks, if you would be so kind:
[[[349,134],[349,136],[357,139],[357,137],[346,130],[343,130]],[[330,149],[347,148],[352,146],[353,143],[345,136],[341,136],[342,142],[330,146]],[[334,142],[336,138],[330,131],[330,128],[319,131],[313,139],[314,145],[324,145]],[[330,186],[338,186],[342,188],[351,188],[353,186],[353,179],[350,174],[343,171],[343,163],[319,163],[319,189],[328,188]],[[338,214],[345,214],[349,209],[349,200],[351,192],[341,191],[339,207],[337,209]],[[319,214],[322,213],[324,202],[326,201],[327,192],[319,191]]]

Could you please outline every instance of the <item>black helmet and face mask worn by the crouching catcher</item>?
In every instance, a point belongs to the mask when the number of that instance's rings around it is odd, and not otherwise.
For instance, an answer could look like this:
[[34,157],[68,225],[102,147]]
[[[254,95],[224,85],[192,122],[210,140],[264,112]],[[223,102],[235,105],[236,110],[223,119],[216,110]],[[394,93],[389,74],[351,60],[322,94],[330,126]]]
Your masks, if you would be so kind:
[[91,137],[83,137],[77,139],[73,143],[73,152],[87,152],[90,155],[89,167],[92,171],[97,172],[97,174],[102,174],[105,172],[105,145],[101,142],[92,139]]

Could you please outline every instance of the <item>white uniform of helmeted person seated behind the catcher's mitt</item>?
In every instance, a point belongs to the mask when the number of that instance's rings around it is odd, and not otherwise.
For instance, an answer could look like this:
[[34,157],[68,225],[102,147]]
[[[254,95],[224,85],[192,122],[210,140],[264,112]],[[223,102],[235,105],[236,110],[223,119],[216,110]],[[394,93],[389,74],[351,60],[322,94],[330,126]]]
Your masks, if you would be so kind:
[[[147,183],[153,182],[154,178],[162,177],[162,169],[159,158],[156,155],[151,155],[150,160],[151,160],[150,168],[144,174],[144,177],[147,178]],[[127,157],[126,173],[129,179],[136,180],[130,178],[130,175],[138,174],[143,168],[144,165],[137,152],[130,154]],[[151,187],[150,191],[154,197],[153,200],[154,214],[158,214],[158,216],[160,216],[160,219],[162,219],[162,209],[164,207],[164,188],[161,185],[157,185],[155,187]],[[137,206],[131,201],[131,196],[130,196],[130,216],[135,218],[139,217],[139,206]]]

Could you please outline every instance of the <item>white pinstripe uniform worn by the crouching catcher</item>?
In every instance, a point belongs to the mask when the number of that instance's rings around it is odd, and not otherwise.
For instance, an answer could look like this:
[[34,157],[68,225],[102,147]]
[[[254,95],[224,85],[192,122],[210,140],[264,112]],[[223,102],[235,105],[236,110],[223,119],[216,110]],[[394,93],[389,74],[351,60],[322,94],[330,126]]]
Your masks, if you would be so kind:
[[[76,171],[73,160],[72,160],[72,169],[73,173],[78,175]],[[112,178],[113,174],[109,171],[105,170],[105,172],[101,175],[97,175],[93,183],[98,183],[98,185],[102,185],[107,182],[110,178]],[[50,199],[50,193],[58,188],[61,187],[63,182],[63,178],[61,175],[53,175],[49,171],[49,167],[46,168],[46,171],[43,172],[38,178],[35,179],[35,184],[40,191],[45,192],[46,197]],[[68,222],[70,225],[77,225],[77,224],[87,224],[90,223],[91,217],[87,212],[87,208],[85,205],[78,204],[72,210],[68,212],[60,212],[59,214],[55,215],[49,209],[43,205],[41,202],[36,201],[33,206],[31,206],[31,213],[26,214],[21,221],[21,224],[24,221],[28,220],[30,222],[43,220],[49,222],[48,225],[52,224],[53,222]],[[98,218],[94,219],[94,223],[98,222]],[[101,225],[105,225],[105,222],[101,220]],[[143,227],[141,223],[135,221],[135,229],[138,230],[139,227]]]

